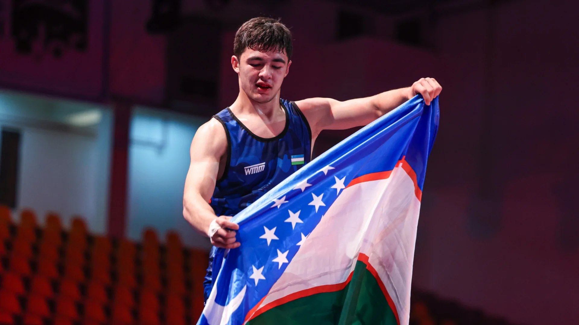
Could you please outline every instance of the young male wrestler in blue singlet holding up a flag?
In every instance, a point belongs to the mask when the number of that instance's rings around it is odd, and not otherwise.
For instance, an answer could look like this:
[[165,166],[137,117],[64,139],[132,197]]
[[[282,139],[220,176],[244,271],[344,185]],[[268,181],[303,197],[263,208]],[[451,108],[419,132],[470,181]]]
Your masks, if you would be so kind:
[[235,238],[239,226],[229,221],[231,216],[307,164],[322,130],[366,125],[416,94],[430,105],[442,90],[433,78],[423,78],[367,98],[291,102],[280,99],[291,54],[291,33],[278,20],[259,17],[241,25],[231,58],[239,95],[201,125],[191,143],[183,215],[214,245],[204,281],[206,300],[215,250],[240,246]]

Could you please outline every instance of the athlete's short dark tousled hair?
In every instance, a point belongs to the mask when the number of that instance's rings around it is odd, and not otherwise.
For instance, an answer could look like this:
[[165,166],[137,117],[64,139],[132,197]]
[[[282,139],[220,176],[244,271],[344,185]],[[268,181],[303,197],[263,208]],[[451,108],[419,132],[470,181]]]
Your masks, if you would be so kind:
[[285,51],[290,59],[293,51],[290,29],[279,19],[257,17],[245,21],[235,33],[233,55],[239,59],[245,49]]

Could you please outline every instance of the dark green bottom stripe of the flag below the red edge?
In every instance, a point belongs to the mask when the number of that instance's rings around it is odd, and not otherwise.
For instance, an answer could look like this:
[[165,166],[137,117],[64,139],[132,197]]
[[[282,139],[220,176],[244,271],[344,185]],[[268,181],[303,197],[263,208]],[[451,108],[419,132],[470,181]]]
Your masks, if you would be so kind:
[[395,325],[397,322],[378,280],[368,271],[366,264],[357,261],[352,279],[344,289],[286,302],[256,316],[247,324]]

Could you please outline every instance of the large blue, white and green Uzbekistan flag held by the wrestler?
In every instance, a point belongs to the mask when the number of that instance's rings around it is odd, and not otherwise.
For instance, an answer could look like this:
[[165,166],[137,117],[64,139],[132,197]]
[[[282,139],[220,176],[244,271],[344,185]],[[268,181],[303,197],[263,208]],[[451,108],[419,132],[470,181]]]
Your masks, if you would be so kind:
[[438,116],[416,96],[234,216],[197,324],[408,324]]

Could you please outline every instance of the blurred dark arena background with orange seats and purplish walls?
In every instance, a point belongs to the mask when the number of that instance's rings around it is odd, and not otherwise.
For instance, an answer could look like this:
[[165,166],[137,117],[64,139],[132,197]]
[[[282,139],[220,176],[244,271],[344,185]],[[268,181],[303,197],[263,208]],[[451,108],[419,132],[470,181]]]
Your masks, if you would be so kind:
[[[570,0],[0,0],[0,323],[193,324],[210,242],[189,145],[237,96],[233,35],[281,17],[281,96],[444,87],[411,324],[579,319]],[[314,156],[354,130],[323,133]]]

